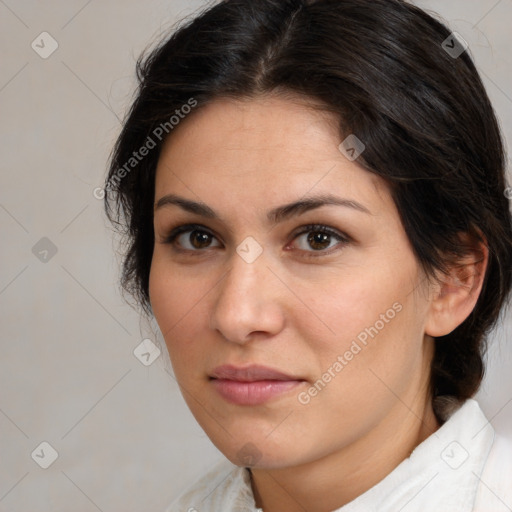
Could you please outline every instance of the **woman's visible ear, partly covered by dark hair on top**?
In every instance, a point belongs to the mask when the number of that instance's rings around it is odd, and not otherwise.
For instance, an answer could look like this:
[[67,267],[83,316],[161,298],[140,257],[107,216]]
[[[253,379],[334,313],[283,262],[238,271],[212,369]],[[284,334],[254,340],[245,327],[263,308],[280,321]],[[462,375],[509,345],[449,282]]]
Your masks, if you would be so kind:
[[[489,250],[483,242],[466,233],[460,236],[467,254],[449,269],[449,274],[437,278],[430,297],[425,334],[445,336],[456,329],[473,311],[484,282]],[[483,237],[482,237],[483,239]]]

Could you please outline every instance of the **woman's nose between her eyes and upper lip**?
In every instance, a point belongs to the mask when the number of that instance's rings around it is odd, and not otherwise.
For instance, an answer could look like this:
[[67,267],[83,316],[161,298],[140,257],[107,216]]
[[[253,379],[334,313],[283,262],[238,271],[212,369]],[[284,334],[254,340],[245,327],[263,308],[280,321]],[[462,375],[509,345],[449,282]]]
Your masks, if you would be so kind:
[[210,327],[232,343],[245,344],[256,334],[271,337],[283,329],[286,287],[264,255],[248,263],[234,252],[225,277],[212,290]]

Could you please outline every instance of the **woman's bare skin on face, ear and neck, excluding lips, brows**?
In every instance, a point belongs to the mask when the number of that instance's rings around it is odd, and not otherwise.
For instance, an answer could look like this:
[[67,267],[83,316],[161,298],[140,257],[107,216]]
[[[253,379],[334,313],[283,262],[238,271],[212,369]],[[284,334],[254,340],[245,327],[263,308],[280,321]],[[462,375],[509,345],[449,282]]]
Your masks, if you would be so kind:
[[[153,312],[201,427],[234,464],[245,465],[241,453],[253,456],[253,492],[265,512],[339,508],[439,428],[428,388],[432,336],[469,315],[485,270],[484,259],[480,274],[429,285],[386,184],[347,159],[341,140],[333,114],[298,97],[217,99],[181,121],[157,167],[155,203],[172,193],[207,204],[220,219],[176,205],[155,210]],[[331,205],[275,226],[267,220],[268,210],[321,193],[370,213]],[[211,238],[200,245],[189,231],[165,243],[188,223]],[[315,230],[295,235],[307,224],[348,242],[331,236],[318,249],[307,238]],[[236,252],[248,236],[263,248],[252,263]],[[300,403],[299,393],[396,303],[400,312]],[[250,363],[305,382],[262,405],[228,403],[209,373]]]

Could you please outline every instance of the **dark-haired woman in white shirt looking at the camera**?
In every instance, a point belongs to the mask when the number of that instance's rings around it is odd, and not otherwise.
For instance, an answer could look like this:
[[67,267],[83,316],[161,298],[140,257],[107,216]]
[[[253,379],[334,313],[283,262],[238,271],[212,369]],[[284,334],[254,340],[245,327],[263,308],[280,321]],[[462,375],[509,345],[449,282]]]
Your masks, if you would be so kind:
[[472,399],[512,228],[466,50],[402,0],[228,0],[139,61],[107,214],[228,459],[169,510],[512,510]]

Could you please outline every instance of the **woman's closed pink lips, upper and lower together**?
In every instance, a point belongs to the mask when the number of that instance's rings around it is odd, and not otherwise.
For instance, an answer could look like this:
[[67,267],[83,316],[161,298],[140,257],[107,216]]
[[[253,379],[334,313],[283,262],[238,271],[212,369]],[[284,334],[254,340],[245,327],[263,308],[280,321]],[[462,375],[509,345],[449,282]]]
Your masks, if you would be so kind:
[[266,366],[223,365],[212,371],[210,382],[230,403],[258,405],[299,386],[304,379]]

